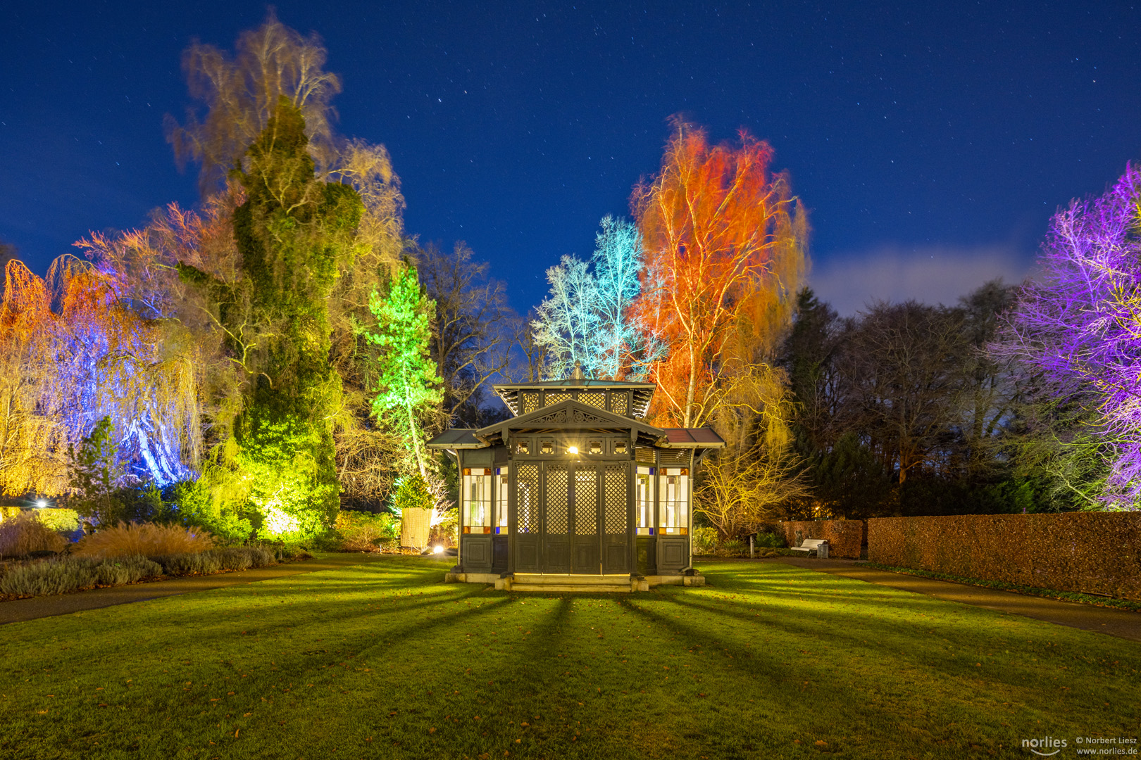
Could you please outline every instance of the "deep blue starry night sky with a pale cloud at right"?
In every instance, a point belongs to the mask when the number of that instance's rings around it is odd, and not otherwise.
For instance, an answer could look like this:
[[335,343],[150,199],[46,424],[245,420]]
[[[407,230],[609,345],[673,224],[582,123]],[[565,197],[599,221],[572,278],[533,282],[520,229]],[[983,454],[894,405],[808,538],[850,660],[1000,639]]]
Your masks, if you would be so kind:
[[[629,214],[667,119],[776,149],[810,210],[812,285],[954,300],[1021,279],[1051,213],[1141,157],[1141,13],[1117,3],[278,2],[329,48],[338,130],[383,142],[421,242],[467,240],[525,311],[543,270]],[[90,229],[197,199],[163,114],[181,54],[266,6],[6,3],[0,240],[33,270]]]

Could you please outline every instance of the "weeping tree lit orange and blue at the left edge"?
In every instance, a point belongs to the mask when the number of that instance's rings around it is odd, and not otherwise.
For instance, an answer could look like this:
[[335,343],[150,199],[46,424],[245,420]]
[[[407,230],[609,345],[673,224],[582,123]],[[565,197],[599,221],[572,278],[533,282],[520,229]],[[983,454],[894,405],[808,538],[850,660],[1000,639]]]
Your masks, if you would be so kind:
[[0,314],[5,492],[66,492],[68,447],[105,417],[116,487],[194,476],[199,354],[179,341],[181,328],[74,256],[52,262],[46,281],[10,262]]

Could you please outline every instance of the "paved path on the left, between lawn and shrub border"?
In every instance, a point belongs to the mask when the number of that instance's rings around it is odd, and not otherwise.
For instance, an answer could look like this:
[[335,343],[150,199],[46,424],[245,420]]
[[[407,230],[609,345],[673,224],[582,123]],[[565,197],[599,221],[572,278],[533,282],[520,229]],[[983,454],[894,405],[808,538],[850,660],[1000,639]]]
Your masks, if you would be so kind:
[[74,594],[37,596],[31,599],[13,599],[10,602],[0,602],[0,624],[17,623],[25,620],[35,620],[37,618],[50,618],[52,615],[66,615],[71,612],[111,607],[116,604],[146,602],[147,599],[157,599],[163,596],[207,591],[212,588],[257,583],[258,581],[272,578],[286,578],[301,573],[314,573],[321,570],[349,567],[366,562],[379,562],[383,556],[381,554],[321,554],[313,559],[290,562],[270,567],[258,567],[257,570],[243,570],[241,572],[219,573],[217,575],[187,575],[165,581],[154,581],[152,583],[131,583],[129,586],[97,588]]

